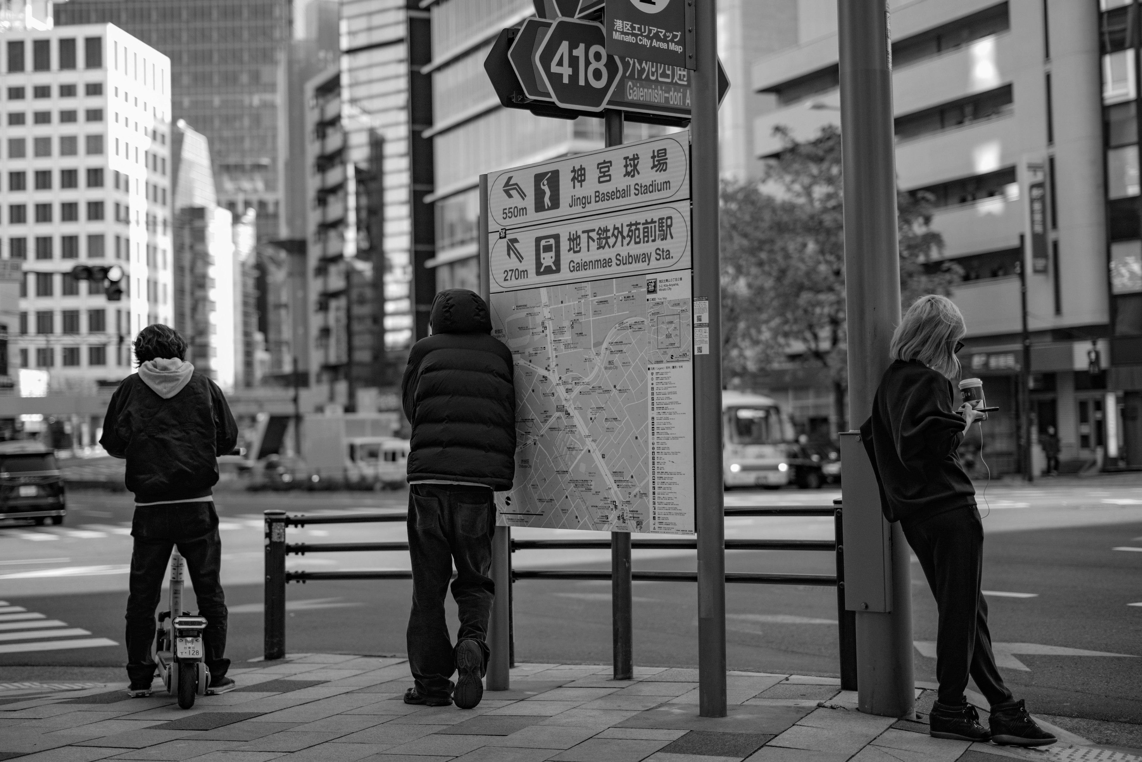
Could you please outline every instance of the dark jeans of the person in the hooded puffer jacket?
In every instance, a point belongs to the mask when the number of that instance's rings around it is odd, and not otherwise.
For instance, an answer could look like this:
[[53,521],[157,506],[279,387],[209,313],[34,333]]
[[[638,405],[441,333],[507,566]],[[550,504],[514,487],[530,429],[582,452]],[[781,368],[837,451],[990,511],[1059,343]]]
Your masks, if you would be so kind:
[[496,584],[492,563],[496,507],[492,491],[463,484],[409,488],[409,555],[412,559],[412,613],[409,615],[409,667],[423,696],[449,696],[456,672],[444,619],[444,595],[452,564],[452,597],[460,617],[456,641],[474,640],[488,665],[488,617]]

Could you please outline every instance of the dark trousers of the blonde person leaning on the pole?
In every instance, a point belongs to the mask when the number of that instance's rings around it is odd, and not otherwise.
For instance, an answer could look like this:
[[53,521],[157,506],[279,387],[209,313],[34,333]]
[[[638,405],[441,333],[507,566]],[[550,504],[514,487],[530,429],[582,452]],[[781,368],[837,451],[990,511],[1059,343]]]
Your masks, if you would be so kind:
[[968,674],[992,706],[1010,701],[1011,691],[991,653],[988,603],[980,592],[983,521],[979,508],[949,511],[902,529],[924,569],[940,615],[935,642],[939,701],[962,704]]

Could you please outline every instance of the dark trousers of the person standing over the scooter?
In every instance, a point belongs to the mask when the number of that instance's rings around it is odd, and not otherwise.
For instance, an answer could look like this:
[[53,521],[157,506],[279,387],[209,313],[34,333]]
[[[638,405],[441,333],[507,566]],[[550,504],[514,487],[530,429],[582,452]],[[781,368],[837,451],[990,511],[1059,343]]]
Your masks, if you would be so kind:
[[[127,597],[127,674],[132,683],[154,676],[151,659],[154,642],[154,611],[162,596],[162,583],[170,567],[170,551],[186,559],[186,567],[199,602],[199,616],[206,617],[202,632],[206,663],[211,681],[230,668],[226,652],[226,596],[218,572],[222,568],[222,538],[214,502],[174,503],[135,508],[131,521],[135,550],[131,553],[130,594]],[[186,607],[186,599],[183,599]],[[179,616],[182,611],[172,612]]]

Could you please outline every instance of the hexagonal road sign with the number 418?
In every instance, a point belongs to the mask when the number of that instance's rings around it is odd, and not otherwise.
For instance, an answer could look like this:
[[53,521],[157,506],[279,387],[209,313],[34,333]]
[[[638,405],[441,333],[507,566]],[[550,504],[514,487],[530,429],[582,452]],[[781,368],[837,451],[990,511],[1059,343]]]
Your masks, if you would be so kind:
[[603,111],[622,74],[618,56],[606,54],[602,24],[560,18],[536,54],[539,74],[556,105]]

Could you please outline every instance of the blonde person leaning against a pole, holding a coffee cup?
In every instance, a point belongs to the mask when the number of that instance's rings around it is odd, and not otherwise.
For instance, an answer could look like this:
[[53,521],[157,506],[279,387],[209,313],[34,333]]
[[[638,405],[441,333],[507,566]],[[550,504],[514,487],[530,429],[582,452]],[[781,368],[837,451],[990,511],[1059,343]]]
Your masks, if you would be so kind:
[[[923,296],[908,308],[872,401],[861,441],[880,484],[888,521],[899,521],[935,596],[939,611],[939,696],[930,716],[936,738],[1046,746],[1040,729],[1004,684],[991,652],[988,604],[980,592],[983,522],[975,488],[957,449],[972,424],[986,417],[970,402],[956,406],[956,352],[967,334],[964,316],[942,296]],[[991,705],[990,728],[967,703],[968,675]]]

